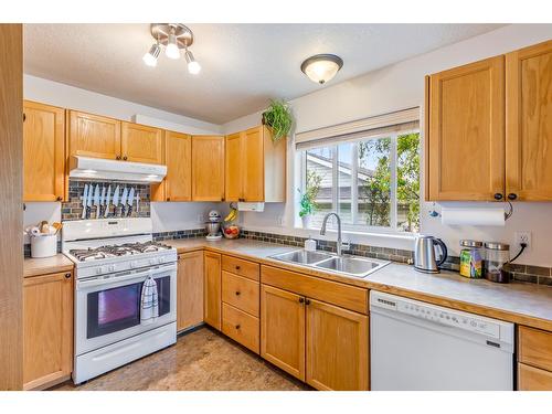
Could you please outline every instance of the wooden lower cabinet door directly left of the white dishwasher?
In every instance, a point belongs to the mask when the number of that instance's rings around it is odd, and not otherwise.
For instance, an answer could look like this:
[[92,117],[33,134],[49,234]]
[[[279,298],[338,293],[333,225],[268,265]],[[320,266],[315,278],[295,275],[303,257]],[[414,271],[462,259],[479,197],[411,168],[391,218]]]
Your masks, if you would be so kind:
[[307,300],[307,375],[318,390],[368,390],[368,317]]

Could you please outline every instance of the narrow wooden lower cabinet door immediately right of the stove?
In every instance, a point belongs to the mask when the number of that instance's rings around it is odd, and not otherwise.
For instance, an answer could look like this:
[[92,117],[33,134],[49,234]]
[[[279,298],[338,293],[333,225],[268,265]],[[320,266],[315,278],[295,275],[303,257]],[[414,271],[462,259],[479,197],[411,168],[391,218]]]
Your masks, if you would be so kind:
[[178,261],[177,330],[203,321],[203,251],[183,253]]

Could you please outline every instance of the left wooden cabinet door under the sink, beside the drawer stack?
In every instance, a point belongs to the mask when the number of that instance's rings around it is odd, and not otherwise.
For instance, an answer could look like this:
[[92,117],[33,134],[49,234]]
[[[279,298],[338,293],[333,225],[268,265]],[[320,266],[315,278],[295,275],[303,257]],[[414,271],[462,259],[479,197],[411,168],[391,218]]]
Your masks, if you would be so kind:
[[261,286],[261,357],[305,381],[305,298]]

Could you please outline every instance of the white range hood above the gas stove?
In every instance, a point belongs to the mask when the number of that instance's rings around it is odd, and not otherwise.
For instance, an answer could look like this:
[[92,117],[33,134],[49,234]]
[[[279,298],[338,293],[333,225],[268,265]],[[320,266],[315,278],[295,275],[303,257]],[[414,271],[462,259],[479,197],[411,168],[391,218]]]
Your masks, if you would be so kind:
[[161,182],[167,176],[167,166],[105,160],[73,156],[70,160],[70,177],[127,182]]

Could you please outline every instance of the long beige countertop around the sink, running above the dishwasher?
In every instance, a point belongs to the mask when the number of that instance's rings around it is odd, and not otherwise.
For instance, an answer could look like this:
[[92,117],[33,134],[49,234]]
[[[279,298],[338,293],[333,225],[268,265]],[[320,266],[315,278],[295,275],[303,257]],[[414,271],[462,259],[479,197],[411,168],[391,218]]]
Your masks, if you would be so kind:
[[552,331],[552,287],[550,286],[520,282],[502,285],[485,279],[467,279],[454,272],[429,275],[416,272],[412,266],[395,263],[364,278],[353,278],[269,258],[272,255],[300,247],[244,238],[235,241],[221,240],[217,242],[208,242],[204,238],[188,238],[171,240],[164,243],[174,246],[179,253],[208,248],[311,276],[396,294]]

